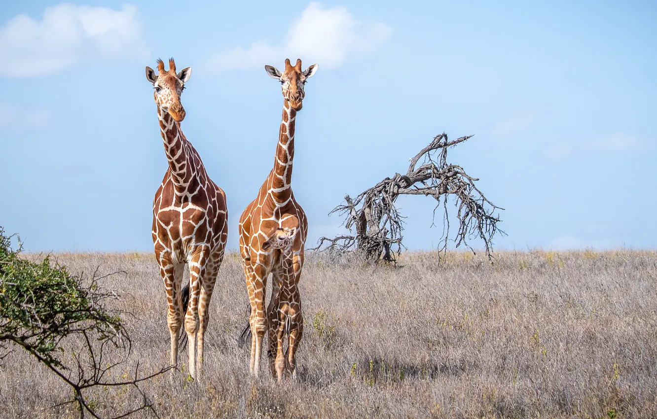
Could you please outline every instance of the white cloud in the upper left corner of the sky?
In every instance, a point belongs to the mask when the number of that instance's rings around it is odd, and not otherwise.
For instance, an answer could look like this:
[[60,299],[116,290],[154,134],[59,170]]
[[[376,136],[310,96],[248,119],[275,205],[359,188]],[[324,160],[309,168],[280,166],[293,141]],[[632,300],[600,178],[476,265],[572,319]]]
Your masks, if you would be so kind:
[[79,62],[142,58],[137,8],[121,11],[62,3],[48,7],[40,22],[19,14],[0,26],[0,76],[55,74]]

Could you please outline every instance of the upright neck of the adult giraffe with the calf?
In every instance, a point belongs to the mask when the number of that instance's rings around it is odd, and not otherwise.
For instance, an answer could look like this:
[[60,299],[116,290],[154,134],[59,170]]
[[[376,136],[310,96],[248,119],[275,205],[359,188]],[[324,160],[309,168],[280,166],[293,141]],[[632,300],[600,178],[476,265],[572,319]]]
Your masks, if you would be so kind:
[[294,158],[295,120],[296,110],[292,109],[290,102],[285,100],[271,182],[271,194],[277,202],[286,202],[292,194],[290,184],[292,183],[292,159]]

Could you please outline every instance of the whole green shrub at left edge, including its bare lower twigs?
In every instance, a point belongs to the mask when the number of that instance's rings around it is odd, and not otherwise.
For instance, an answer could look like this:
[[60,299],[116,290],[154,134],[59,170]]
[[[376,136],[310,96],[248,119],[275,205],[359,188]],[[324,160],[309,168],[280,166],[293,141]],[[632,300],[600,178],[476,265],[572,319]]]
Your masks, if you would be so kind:
[[[81,417],[85,411],[98,417],[94,412],[97,403],[83,396],[85,389],[96,386],[131,386],[139,393],[143,404],[120,417],[150,408],[137,384],[170,368],[139,378],[137,364],[132,379],[108,380],[108,372],[127,359],[131,347],[119,311],[105,305],[108,299],[118,299],[114,292],[99,286],[99,280],[106,276],[99,276],[97,269],[91,278],[83,280],[49,257],[30,261],[20,255],[20,238],[16,250],[11,239],[0,227],[0,350],[5,351],[0,359],[9,355],[12,343],[34,355],[73,387],[74,399],[66,403],[78,403]],[[62,357],[64,347],[70,351],[66,359]],[[121,350],[123,361],[102,361],[110,348]]]

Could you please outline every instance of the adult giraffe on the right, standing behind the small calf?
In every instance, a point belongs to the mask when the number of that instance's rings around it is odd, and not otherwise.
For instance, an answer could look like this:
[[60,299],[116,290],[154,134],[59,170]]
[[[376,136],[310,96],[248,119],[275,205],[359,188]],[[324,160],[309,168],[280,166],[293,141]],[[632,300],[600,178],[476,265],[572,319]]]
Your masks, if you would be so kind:
[[[296,60],[292,66],[290,60],[285,60],[285,70],[281,73],[273,66],[265,66],[270,77],[281,81],[283,91],[283,121],[279,130],[279,142],[276,146],[274,167],[260,187],[258,196],[253,200],[240,217],[240,255],[246,276],[246,288],[249,294],[251,314],[249,324],[251,330],[251,359],[249,370],[252,374],[260,372],[260,353],[263,337],[267,331],[269,313],[279,292],[281,281],[286,275],[294,276],[299,282],[304,265],[304,244],[308,230],[308,222],[304,209],[297,204],[292,193],[292,159],[294,158],[294,124],[296,113],[301,110],[304,100],[304,84],[317,72],[317,64],[301,70],[301,60]],[[298,231],[290,246],[292,263],[283,264],[281,249],[264,249],[263,243],[269,240],[267,234],[277,228],[294,227]],[[290,273],[290,269],[292,273]],[[272,296],[265,313],[265,292],[267,276],[273,276]],[[299,336],[300,338],[300,336]],[[297,342],[298,345],[298,342]],[[270,353],[271,355],[271,353]]]

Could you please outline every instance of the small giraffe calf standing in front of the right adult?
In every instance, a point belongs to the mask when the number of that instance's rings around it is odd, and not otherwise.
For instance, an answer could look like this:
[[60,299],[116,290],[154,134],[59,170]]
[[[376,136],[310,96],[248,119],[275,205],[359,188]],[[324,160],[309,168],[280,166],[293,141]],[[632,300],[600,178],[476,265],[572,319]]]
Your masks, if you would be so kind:
[[[284,372],[287,370],[296,376],[296,350],[301,342],[304,332],[304,318],[301,312],[301,296],[294,278],[292,268],[292,243],[298,231],[299,221],[294,215],[281,220],[281,225],[290,227],[279,227],[269,240],[263,242],[262,249],[280,249],[281,253],[281,286],[275,296],[271,296],[272,310],[269,313],[269,367],[271,375],[283,380]],[[287,338],[288,349],[283,355],[283,340]]]

